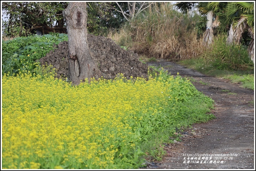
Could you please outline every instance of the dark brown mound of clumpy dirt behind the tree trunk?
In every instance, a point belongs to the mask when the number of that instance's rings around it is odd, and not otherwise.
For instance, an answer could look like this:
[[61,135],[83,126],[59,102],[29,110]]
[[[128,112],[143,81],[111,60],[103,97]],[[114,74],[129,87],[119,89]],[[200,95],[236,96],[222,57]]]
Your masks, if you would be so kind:
[[[147,77],[148,66],[139,60],[137,53],[124,50],[113,40],[103,36],[88,34],[87,40],[92,58],[98,64],[103,78],[113,79],[119,73],[123,73],[127,78]],[[52,64],[57,69],[57,77],[69,77],[67,58],[68,43],[64,41],[58,44],[57,49],[41,58],[40,63]]]

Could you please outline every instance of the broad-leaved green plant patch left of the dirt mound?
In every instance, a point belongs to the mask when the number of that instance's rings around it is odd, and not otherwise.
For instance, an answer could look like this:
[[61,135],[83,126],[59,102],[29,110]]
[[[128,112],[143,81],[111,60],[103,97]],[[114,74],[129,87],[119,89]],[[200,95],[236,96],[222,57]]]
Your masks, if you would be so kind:
[[[20,70],[33,73],[37,59],[44,57],[61,41],[67,41],[67,34],[50,33],[43,36],[17,37],[2,42],[2,76],[17,74]],[[34,64],[35,63],[35,64]]]

